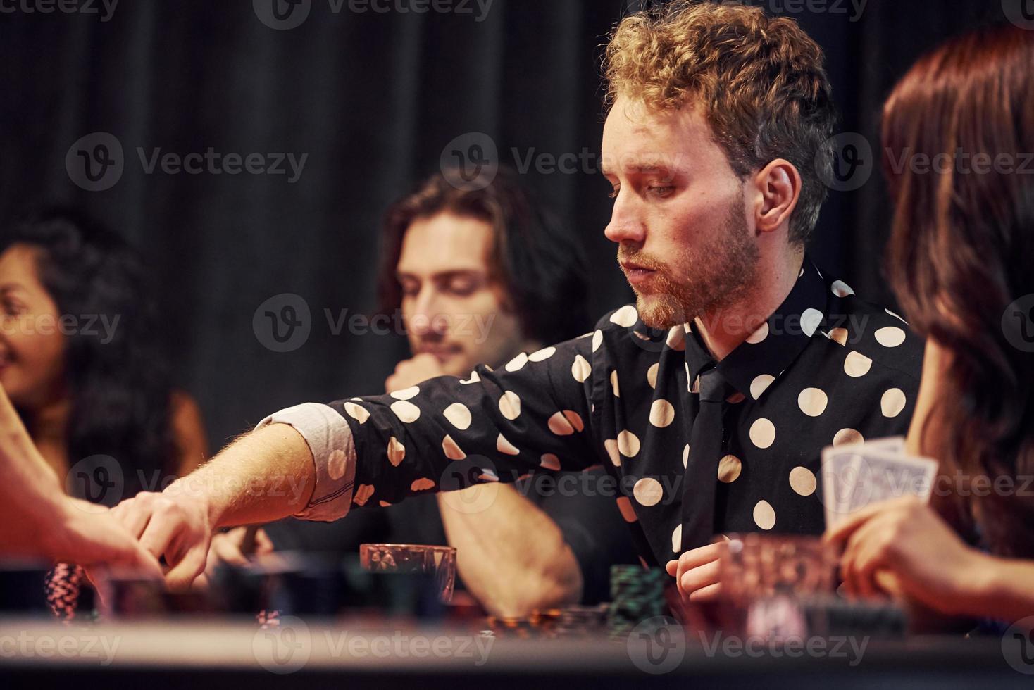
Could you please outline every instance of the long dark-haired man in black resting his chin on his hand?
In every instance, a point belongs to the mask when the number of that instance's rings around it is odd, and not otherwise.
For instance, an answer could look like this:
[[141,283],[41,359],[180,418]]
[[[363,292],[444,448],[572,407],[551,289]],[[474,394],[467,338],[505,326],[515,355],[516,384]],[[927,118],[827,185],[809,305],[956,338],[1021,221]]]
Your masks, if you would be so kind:
[[[413,353],[389,391],[482,363],[501,367],[589,325],[583,255],[570,229],[509,169],[473,184],[453,173],[430,177],[387,214],[377,291],[385,314],[401,312]],[[395,446],[394,457],[404,452]],[[547,472],[367,508],[355,525],[290,521],[268,531],[278,547],[307,551],[353,551],[357,540],[449,543],[462,584],[489,613],[525,616],[604,600],[610,565],[635,562],[615,497],[600,469]]]

